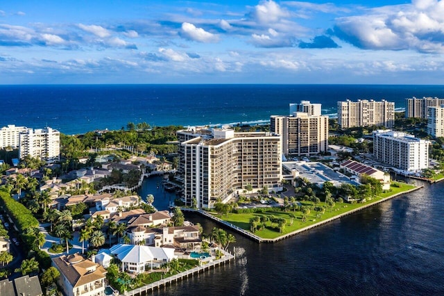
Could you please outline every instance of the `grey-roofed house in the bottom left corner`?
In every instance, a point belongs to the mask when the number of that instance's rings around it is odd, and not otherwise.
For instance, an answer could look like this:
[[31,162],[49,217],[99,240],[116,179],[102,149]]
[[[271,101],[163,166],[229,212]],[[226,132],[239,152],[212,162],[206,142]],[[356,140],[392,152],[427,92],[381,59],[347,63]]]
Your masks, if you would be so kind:
[[5,296],[42,296],[42,287],[40,286],[39,278],[35,275],[29,277],[26,274],[24,277],[19,277],[10,281],[3,279],[0,281],[0,295]]

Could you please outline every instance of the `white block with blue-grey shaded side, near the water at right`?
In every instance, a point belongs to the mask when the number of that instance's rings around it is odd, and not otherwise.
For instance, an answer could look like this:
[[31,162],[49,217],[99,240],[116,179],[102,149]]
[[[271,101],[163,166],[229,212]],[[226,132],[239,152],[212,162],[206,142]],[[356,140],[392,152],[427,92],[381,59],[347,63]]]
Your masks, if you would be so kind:
[[417,172],[429,167],[429,140],[398,131],[374,131],[373,154],[377,161]]

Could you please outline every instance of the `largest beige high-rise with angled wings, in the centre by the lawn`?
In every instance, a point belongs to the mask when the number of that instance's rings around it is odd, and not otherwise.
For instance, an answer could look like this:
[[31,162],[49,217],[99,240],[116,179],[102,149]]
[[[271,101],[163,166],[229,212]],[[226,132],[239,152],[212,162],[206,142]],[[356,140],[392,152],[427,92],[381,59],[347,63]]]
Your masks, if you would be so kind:
[[229,129],[178,131],[178,180],[187,206],[212,208],[246,188],[281,189],[280,136],[273,133],[235,133]]

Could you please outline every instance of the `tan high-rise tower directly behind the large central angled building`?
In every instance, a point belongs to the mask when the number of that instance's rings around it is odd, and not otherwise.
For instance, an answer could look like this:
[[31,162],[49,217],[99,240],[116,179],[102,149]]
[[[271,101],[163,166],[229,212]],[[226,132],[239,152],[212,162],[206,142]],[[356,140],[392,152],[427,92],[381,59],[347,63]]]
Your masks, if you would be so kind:
[[328,149],[328,117],[293,113],[293,116],[273,115],[270,129],[282,138],[282,154],[311,155]]

